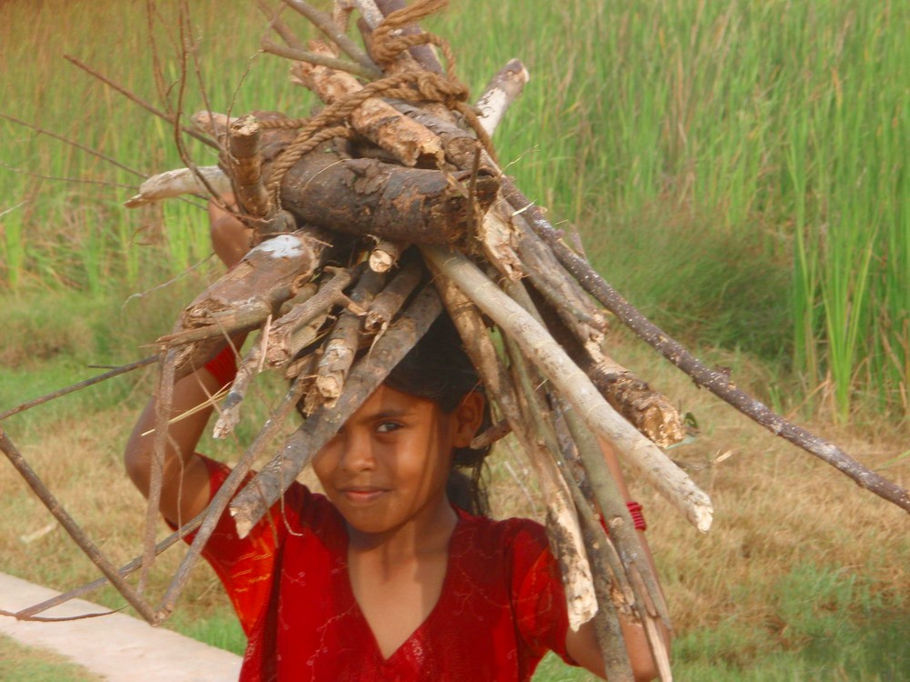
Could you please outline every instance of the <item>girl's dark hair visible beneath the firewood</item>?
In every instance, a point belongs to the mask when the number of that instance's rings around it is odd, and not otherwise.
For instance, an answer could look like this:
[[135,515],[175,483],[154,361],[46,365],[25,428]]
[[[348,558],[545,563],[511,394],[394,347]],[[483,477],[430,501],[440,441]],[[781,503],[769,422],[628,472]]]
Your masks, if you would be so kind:
[[[458,330],[445,312],[389,373],[385,383],[401,393],[432,400],[445,413],[456,409],[471,391],[483,391],[477,370],[461,345]],[[485,401],[480,433],[490,425],[490,403]],[[481,484],[483,462],[489,454],[490,446],[459,447],[452,456],[446,494],[452,504],[470,514],[480,516],[489,512]]]

